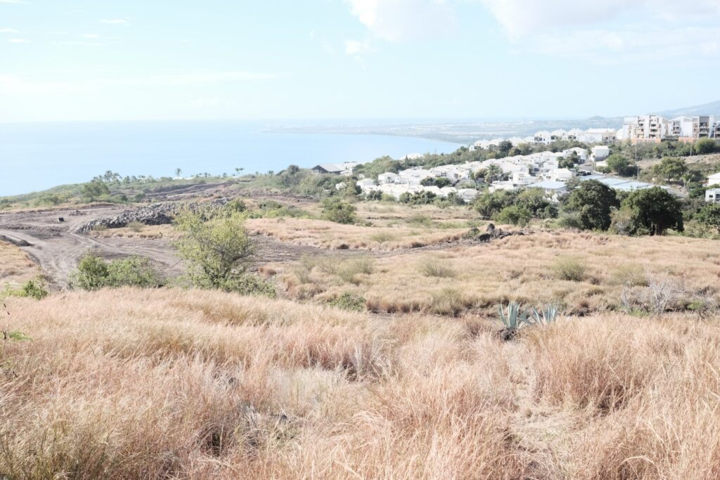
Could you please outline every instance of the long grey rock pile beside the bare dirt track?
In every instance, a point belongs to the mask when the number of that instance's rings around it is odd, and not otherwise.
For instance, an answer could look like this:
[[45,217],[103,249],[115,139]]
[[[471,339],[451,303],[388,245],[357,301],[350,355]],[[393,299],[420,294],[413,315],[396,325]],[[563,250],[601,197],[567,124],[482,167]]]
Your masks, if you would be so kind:
[[184,209],[192,212],[216,209],[224,206],[230,199],[222,198],[213,201],[184,203],[172,201],[168,203],[151,204],[147,207],[127,209],[117,217],[105,217],[94,219],[78,229],[78,233],[87,234],[95,230],[98,225],[107,228],[127,227],[132,222],[140,222],[145,225],[168,225],[173,222],[176,214]]

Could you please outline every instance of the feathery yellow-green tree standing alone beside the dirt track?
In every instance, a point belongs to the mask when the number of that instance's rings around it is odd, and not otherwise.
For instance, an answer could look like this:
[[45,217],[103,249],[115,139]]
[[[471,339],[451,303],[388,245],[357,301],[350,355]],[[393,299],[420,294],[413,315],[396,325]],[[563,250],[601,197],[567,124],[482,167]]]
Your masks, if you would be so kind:
[[189,276],[195,286],[225,289],[246,271],[253,253],[245,230],[245,217],[230,214],[207,222],[196,213],[181,212],[175,227],[183,233],[173,245],[178,255],[189,263]]

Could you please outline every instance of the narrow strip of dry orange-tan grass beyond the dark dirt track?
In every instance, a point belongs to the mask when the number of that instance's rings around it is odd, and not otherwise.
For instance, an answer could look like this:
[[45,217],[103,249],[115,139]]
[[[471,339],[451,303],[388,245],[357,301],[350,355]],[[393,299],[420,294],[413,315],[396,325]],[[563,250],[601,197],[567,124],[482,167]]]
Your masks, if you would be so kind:
[[433,228],[427,225],[362,227],[325,220],[295,218],[248,219],[248,232],[282,242],[322,248],[396,250],[446,243],[462,238],[467,228]]

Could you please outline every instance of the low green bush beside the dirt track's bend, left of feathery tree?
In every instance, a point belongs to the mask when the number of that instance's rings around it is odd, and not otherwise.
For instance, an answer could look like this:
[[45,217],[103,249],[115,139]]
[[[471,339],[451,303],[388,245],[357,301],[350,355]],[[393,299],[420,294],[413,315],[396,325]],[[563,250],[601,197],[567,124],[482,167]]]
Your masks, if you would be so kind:
[[161,285],[147,258],[132,256],[107,262],[91,253],[78,263],[69,283],[73,288],[89,291],[121,286],[150,288]]

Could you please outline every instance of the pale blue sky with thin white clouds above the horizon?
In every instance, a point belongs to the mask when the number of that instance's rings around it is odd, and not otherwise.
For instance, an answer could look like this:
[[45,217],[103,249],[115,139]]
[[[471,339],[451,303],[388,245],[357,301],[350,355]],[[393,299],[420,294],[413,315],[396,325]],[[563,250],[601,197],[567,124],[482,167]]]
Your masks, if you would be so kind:
[[720,0],[0,0],[0,122],[618,116],[719,78]]

